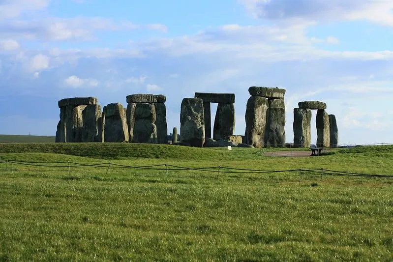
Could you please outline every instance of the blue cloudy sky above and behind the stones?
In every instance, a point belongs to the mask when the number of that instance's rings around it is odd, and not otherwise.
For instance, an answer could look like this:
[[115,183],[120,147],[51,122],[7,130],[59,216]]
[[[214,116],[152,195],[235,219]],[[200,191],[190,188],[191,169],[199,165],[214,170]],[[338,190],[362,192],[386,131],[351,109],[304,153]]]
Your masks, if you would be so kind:
[[392,43],[393,0],[0,0],[0,134],[55,135],[58,100],[133,93],[167,96],[171,132],[194,92],[235,93],[244,134],[266,86],[287,90],[287,142],[320,100],[341,144],[393,143]]

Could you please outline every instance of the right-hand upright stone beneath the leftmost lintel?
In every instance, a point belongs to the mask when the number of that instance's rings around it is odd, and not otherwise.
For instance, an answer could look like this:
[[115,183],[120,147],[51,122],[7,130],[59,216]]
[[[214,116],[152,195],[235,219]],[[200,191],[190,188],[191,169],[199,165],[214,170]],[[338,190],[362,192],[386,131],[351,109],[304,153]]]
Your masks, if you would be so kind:
[[99,126],[98,119],[101,114],[100,105],[89,105],[83,110],[82,142],[103,142],[102,137],[99,137],[99,129],[102,127]]

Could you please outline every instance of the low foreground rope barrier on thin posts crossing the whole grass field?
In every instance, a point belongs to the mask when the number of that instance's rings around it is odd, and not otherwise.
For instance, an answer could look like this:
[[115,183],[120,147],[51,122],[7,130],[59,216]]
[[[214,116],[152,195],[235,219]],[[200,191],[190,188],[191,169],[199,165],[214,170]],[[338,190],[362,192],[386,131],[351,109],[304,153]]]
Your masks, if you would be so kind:
[[[367,177],[393,177],[393,175],[379,175],[379,174],[363,174],[363,173],[355,173],[355,172],[346,172],[346,171],[336,171],[329,169],[289,169],[289,170],[256,170],[256,169],[242,169],[242,168],[232,168],[232,167],[199,167],[199,168],[189,168],[189,167],[181,167],[175,165],[168,164],[160,164],[160,165],[150,165],[150,166],[127,166],[121,164],[114,163],[97,163],[97,164],[82,164],[76,162],[30,162],[30,161],[20,161],[20,160],[1,160],[0,163],[11,163],[11,170],[13,172],[13,164],[24,165],[24,166],[36,166],[36,167],[59,167],[65,168],[67,167],[69,173],[71,173],[71,167],[98,167],[98,168],[106,168],[106,174],[108,174],[109,168],[127,168],[127,169],[145,169],[145,170],[156,170],[156,171],[166,171],[168,175],[168,171],[179,171],[179,170],[191,170],[191,171],[200,171],[200,172],[210,172],[217,173],[217,178],[220,173],[222,174],[274,174],[274,173],[300,173],[300,180],[302,179],[303,172],[310,172],[322,175],[350,175],[350,176],[367,176]],[[67,163],[68,165],[57,165]],[[218,169],[218,172],[217,172]]]

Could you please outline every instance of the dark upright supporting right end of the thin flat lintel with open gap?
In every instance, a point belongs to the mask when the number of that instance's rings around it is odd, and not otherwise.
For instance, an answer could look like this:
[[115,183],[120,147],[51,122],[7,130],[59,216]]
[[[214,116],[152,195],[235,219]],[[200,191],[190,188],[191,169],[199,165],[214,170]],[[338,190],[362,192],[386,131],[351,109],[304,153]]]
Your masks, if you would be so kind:
[[232,136],[235,130],[235,107],[234,104],[218,103],[215,113],[213,139],[225,139]]

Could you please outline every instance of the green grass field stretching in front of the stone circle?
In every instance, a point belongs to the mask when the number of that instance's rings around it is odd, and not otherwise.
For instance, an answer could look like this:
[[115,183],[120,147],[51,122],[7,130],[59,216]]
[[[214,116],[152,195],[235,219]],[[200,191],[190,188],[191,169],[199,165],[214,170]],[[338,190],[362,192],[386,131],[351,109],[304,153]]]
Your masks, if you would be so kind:
[[[393,146],[0,144],[0,161],[393,175]],[[0,163],[0,261],[392,261],[393,177]],[[72,164],[71,164],[72,166]]]

